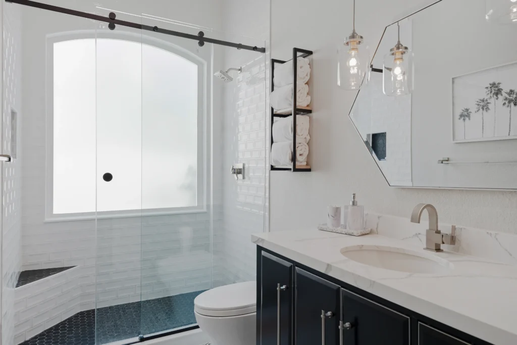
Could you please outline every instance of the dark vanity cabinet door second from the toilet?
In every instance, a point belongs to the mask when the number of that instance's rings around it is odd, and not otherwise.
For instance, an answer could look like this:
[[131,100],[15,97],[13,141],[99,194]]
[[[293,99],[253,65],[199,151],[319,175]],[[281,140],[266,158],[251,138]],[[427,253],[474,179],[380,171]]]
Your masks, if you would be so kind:
[[340,289],[296,268],[296,345],[338,345]]

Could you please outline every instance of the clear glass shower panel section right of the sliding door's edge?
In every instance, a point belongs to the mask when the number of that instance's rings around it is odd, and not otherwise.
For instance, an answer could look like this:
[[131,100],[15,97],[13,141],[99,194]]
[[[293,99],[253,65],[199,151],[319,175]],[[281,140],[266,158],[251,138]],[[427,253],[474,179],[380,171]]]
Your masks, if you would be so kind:
[[[266,47],[264,40],[233,35],[212,34],[217,39]],[[224,82],[214,78],[214,132],[212,179],[214,196],[214,274],[212,287],[256,279],[256,246],[252,233],[265,229],[267,221],[269,155],[269,64],[268,56],[248,50],[218,46],[214,70],[231,71]],[[218,95],[218,96],[216,96]],[[216,108],[216,99],[221,103]],[[233,164],[244,164],[244,178],[228,172]],[[217,200],[217,198],[214,198]]]

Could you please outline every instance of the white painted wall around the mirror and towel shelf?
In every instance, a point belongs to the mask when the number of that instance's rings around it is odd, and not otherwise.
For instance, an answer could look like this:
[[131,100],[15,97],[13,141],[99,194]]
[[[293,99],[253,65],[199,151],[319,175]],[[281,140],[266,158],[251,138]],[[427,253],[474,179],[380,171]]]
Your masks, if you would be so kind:
[[[376,47],[386,25],[420,0],[357,2],[356,29]],[[296,20],[294,20],[296,19]],[[314,51],[311,79],[310,173],[273,171],[270,177],[272,231],[314,229],[329,204],[346,204],[357,193],[369,211],[409,217],[420,202],[434,204],[444,222],[515,232],[517,193],[390,188],[348,119],[355,93],[336,86],[338,44],[352,31],[352,2],[273,0],[271,56],[288,58],[292,48]]]

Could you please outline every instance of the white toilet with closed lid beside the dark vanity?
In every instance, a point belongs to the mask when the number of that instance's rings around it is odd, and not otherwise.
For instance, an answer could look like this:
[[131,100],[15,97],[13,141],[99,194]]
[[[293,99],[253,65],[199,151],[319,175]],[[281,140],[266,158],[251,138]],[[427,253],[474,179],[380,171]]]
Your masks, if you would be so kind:
[[212,345],[255,345],[256,281],[203,292],[194,299],[194,314]]

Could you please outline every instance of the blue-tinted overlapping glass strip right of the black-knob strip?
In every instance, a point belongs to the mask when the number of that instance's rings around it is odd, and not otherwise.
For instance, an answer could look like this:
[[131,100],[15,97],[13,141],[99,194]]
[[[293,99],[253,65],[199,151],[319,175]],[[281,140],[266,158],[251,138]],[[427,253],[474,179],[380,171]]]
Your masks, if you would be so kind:
[[[199,28],[144,14],[143,24]],[[193,299],[209,289],[212,45],[142,36],[142,334],[195,324]]]

